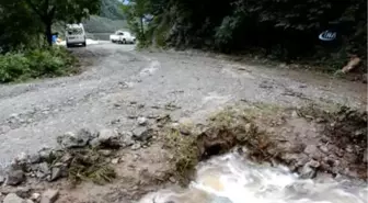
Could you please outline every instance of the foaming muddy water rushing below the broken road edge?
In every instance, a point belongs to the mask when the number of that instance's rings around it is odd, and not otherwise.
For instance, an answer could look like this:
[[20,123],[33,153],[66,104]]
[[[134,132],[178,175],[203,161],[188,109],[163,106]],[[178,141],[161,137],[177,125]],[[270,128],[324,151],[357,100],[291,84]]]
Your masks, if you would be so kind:
[[349,180],[302,180],[285,167],[229,154],[198,166],[187,189],[148,194],[140,203],[368,203],[368,185]]

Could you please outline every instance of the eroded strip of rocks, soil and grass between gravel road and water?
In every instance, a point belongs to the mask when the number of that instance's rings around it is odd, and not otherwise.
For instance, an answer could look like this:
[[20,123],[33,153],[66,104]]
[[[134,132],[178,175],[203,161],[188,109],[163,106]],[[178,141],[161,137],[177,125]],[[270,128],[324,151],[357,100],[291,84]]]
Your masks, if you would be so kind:
[[140,136],[106,128],[58,137],[58,148],[14,160],[2,187],[38,202],[47,189],[57,202],[133,202],[147,193],[186,185],[199,161],[237,150],[302,179],[367,180],[367,112],[345,106],[284,108],[244,103],[226,108],[205,124],[157,117]]

